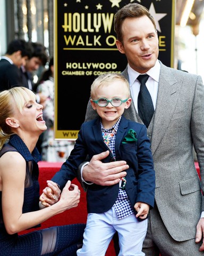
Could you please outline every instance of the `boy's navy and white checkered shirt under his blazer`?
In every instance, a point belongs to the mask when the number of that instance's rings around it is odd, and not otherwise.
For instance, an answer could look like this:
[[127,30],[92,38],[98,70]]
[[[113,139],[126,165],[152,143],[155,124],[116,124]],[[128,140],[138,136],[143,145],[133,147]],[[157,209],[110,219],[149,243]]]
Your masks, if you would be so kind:
[[[117,129],[120,124],[120,121],[121,121],[121,117],[120,119],[118,119],[117,123],[111,129],[104,129],[102,123],[100,122],[101,132],[103,134],[104,133],[110,134],[109,143],[107,146],[109,147],[109,149],[111,149],[114,159],[115,159],[115,135],[117,133]],[[117,199],[113,206],[116,211],[118,220],[128,217],[130,214],[133,213],[130,200],[125,190],[119,189]]]

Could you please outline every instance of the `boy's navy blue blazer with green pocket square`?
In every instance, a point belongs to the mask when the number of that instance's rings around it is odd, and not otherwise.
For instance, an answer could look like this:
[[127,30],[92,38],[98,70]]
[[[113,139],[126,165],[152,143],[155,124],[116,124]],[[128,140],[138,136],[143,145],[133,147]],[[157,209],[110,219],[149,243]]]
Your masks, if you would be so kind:
[[[128,131],[133,129],[137,134],[137,141],[122,143]],[[103,151],[109,150],[103,140],[100,119],[96,118],[81,125],[78,139],[69,158],[63,163],[60,171],[56,172],[52,181],[58,183],[61,189],[68,180],[77,177],[79,165]],[[110,150],[109,150],[110,151]],[[128,194],[134,213],[136,202],[143,202],[154,206],[155,199],[155,171],[150,150],[147,129],[143,124],[132,122],[122,116],[115,138],[116,161],[124,160],[130,166],[126,171],[125,191]],[[103,159],[104,163],[114,161],[110,154]],[[118,196],[118,183],[113,186],[99,186],[92,184],[87,190],[88,213],[103,213],[111,209]]]

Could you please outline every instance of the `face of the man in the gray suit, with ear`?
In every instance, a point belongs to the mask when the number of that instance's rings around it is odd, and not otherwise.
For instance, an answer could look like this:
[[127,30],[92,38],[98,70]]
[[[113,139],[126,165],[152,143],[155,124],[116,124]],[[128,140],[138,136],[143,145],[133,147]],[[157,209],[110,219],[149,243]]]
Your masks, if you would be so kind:
[[145,15],[126,18],[122,24],[123,43],[116,41],[118,50],[124,53],[135,71],[146,73],[155,66],[158,58],[158,36],[151,20]]

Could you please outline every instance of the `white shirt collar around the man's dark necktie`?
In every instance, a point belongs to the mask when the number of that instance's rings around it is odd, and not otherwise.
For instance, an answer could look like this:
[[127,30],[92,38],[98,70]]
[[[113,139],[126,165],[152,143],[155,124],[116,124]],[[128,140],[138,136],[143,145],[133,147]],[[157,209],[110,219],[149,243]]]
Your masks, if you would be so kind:
[[[157,60],[155,63],[155,66],[150,68],[147,72],[147,75],[149,75],[151,78],[153,78],[157,83],[159,82],[159,74],[160,74],[160,63]],[[130,83],[130,87],[133,85],[135,79],[141,75],[140,73],[138,73],[137,71],[135,71],[134,69],[132,69],[130,67],[130,65],[128,64],[128,76],[129,76],[129,83]]]

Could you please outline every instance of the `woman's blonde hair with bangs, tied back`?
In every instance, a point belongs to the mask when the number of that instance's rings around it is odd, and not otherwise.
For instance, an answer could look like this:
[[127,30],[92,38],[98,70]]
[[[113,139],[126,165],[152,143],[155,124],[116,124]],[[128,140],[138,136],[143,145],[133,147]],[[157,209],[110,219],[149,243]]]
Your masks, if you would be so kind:
[[0,93],[0,149],[13,134],[6,118],[13,116],[16,109],[21,113],[24,104],[30,100],[36,100],[36,95],[25,87],[13,87]]

